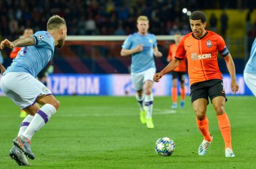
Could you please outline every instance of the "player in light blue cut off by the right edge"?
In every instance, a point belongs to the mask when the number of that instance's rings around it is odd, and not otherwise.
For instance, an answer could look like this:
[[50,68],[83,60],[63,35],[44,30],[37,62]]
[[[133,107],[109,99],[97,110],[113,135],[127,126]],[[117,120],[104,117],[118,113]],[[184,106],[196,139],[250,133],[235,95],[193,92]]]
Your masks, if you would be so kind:
[[244,70],[245,83],[256,96],[256,38],[251,46],[251,55]]

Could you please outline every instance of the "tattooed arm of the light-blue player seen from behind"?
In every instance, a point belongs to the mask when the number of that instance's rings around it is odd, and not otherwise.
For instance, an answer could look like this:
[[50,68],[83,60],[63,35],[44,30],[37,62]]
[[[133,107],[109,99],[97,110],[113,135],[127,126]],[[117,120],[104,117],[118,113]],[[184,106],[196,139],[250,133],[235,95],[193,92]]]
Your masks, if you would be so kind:
[[35,44],[34,38],[33,37],[28,37],[28,38],[20,38],[17,40],[14,40],[13,42],[5,39],[1,42],[1,49],[3,49],[4,47],[7,48],[14,48],[15,46],[18,47],[24,47],[24,46],[32,46]]

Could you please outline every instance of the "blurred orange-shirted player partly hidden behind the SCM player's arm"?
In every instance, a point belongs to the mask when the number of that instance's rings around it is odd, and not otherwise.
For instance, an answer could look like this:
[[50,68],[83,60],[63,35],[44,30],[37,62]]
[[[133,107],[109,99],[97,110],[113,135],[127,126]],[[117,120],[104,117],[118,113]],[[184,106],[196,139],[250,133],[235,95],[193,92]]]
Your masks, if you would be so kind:
[[[177,47],[179,45],[179,42],[181,41],[181,33],[174,34],[174,43],[170,44],[169,46],[169,52],[167,57],[167,62],[170,62],[174,59],[175,53],[177,50]],[[181,108],[184,108],[185,106],[185,79],[186,79],[186,71],[187,71],[187,65],[186,60],[183,59],[181,62],[181,65],[179,65],[176,69],[172,71],[172,109],[176,109],[178,107],[177,105],[177,98],[178,98],[178,81],[180,81],[181,85]]]

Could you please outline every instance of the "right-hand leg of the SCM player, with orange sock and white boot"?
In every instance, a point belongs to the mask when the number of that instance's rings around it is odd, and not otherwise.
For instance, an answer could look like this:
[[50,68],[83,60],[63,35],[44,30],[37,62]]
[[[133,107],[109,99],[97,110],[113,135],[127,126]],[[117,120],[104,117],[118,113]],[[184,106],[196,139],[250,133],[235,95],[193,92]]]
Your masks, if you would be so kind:
[[226,98],[224,98],[223,96],[217,96],[216,98],[212,99],[212,104],[218,118],[220,132],[222,133],[222,137],[225,143],[226,157],[234,157],[231,145],[230,121],[224,109],[225,102]]

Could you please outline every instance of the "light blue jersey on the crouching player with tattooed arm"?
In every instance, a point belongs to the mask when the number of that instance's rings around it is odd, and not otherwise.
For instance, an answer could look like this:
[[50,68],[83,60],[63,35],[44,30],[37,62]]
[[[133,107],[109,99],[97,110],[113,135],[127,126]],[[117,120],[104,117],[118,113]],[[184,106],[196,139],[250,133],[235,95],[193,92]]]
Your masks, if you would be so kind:
[[23,47],[3,75],[8,72],[26,72],[36,77],[53,58],[53,36],[49,32],[38,31],[32,37],[35,40],[34,46]]

